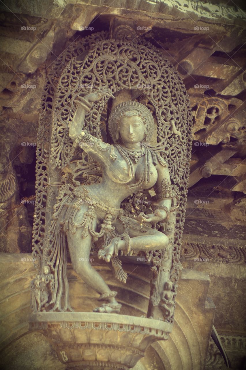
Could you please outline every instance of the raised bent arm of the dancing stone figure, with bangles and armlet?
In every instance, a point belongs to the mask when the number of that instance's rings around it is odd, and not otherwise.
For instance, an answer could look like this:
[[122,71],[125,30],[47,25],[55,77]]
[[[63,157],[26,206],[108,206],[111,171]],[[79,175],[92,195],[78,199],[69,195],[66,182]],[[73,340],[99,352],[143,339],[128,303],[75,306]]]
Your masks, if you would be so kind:
[[[83,131],[82,127],[86,112],[90,112],[92,109],[92,103],[100,100],[103,96],[113,97],[112,93],[107,89],[98,90],[80,98],[78,108],[69,128],[69,137],[74,142],[74,145],[79,145],[79,147],[100,162],[108,160],[110,155],[112,158],[112,150],[109,150],[111,145],[90,135],[86,130]],[[115,158],[113,157],[112,159]]]

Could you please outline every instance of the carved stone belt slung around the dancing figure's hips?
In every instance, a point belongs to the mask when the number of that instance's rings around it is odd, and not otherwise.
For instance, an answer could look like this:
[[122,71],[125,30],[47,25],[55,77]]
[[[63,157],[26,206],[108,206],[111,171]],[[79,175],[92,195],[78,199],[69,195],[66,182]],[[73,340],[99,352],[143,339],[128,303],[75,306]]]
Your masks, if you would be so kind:
[[[123,215],[124,211],[121,208],[112,208],[109,206],[106,206],[105,204],[96,201],[95,199],[91,198],[88,194],[88,190],[83,186],[82,189],[74,189],[73,194],[75,196],[78,196],[78,199],[76,202],[73,204],[75,208],[80,208],[81,204],[83,203],[88,203],[95,208],[99,209],[100,211],[110,213],[111,215],[119,216]],[[72,205],[72,204],[68,204]]]

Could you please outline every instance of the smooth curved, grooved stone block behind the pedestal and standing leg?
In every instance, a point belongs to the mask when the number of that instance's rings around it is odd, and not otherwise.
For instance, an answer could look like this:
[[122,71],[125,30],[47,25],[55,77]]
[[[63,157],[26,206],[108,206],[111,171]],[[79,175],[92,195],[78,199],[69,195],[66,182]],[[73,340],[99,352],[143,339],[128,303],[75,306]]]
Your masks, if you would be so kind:
[[[19,369],[21,366],[25,370],[30,369],[31,363],[32,370],[41,370],[40,361],[42,361],[42,366],[45,364],[46,369],[54,369],[54,366],[55,369],[65,369],[58,362],[57,355],[52,349],[54,347],[45,342],[42,334],[28,333],[30,282],[35,274],[31,255],[13,256],[1,253],[0,258],[4,266],[1,271],[1,281],[4,286],[4,289],[1,289],[0,308],[3,317],[1,344],[6,346],[10,341],[14,341],[6,347],[6,350],[1,351],[1,368],[7,370],[7,364],[13,363],[11,368]],[[21,258],[25,260],[21,261]],[[113,289],[119,290],[120,301],[124,307],[123,317],[125,317],[124,313],[129,313],[129,310],[139,316],[139,319],[142,315],[146,316],[151,278],[148,267],[124,265],[124,269],[130,274],[130,289],[125,289],[123,285],[119,287],[117,280],[112,277],[109,268],[107,266],[105,268],[104,263],[97,260],[94,267],[102,273]],[[82,302],[84,308],[91,312],[96,298],[91,295],[89,287],[70,267],[68,276],[75,310],[81,307]],[[179,288],[176,319],[170,340],[166,341],[165,345],[158,342],[152,349],[150,348],[146,358],[140,360],[134,370],[164,368],[189,370],[192,364],[194,369],[203,368],[207,350],[204,342],[210,336],[214,315],[212,302],[206,300],[209,288],[208,275],[184,270]],[[192,335],[187,336],[187,332]],[[20,336],[22,337],[18,339]],[[32,346],[31,343],[33,343]],[[35,351],[38,346],[41,346],[41,349]]]

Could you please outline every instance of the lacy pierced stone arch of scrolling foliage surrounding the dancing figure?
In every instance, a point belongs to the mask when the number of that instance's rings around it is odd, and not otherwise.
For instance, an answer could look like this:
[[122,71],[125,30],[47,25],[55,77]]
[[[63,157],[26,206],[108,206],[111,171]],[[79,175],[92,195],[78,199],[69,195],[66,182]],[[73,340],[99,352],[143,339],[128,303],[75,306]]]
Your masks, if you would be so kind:
[[[144,95],[154,107],[157,120],[157,145],[153,149],[167,159],[171,182],[180,202],[179,211],[165,230],[173,245],[171,256],[151,256],[153,268],[165,273],[165,281],[172,281],[175,295],[191,154],[192,116],[187,91],[177,71],[152,44],[140,38],[129,45],[123,40],[106,40],[105,36],[106,33],[101,33],[96,39],[87,37],[77,43],[75,50],[70,47],[48,76],[38,142],[38,220],[34,228],[34,257],[41,269],[45,262],[42,255],[44,226],[50,224],[59,185],[69,182],[69,174],[65,171],[62,175],[62,171],[73,156],[79,155],[68,137],[68,129],[80,97],[88,94],[88,87],[92,91],[108,87],[114,93],[122,89],[139,89],[140,86],[145,89]],[[82,55],[86,55],[85,58]],[[66,61],[68,63],[65,65]],[[61,63],[64,63],[65,68],[62,68]],[[106,98],[95,102],[85,117],[85,128],[97,138],[101,138],[100,117],[106,103]],[[41,135],[44,136],[41,138]],[[45,171],[45,176],[41,175],[42,171]],[[167,267],[170,259],[171,273]],[[163,287],[158,287],[159,293],[160,289]],[[152,302],[152,305],[155,304]]]

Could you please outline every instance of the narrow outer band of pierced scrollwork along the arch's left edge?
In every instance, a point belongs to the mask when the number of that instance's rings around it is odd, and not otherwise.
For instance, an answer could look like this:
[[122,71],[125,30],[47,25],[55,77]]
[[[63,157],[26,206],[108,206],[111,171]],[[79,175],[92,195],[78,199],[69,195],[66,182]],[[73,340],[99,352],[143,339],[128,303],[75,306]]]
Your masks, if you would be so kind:
[[[48,72],[42,95],[41,112],[39,117],[37,133],[37,162],[36,162],[36,202],[33,225],[33,258],[35,266],[41,271],[43,260],[42,250],[44,246],[45,226],[47,208],[51,212],[55,203],[55,195],[51,202],[48,203],[50,187],[47,184],[51,179],[51,168],[49,164],[51,149],[51,131],[52,131],[52,110],[54,95],[57,89],[59,77],[63,73],[66,64],[74,57],[85,53],[95,45],[95,41],[103,40],[107,37],[108,32],[103,31],[87,36],[82,40],[74,41],[66,50],[57,58]],[[54,188],[57,188],[54,185]],[[34,303],[35,304],[35,303]]]

